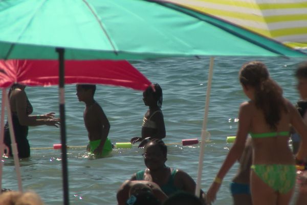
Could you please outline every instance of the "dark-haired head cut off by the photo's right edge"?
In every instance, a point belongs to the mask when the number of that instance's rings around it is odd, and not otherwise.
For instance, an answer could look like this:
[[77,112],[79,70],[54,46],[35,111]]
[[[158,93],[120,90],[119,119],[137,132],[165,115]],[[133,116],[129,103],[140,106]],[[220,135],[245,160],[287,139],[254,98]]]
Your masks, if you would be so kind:
[[300,94],[301,99],[307,100],[307,61],[301,63],[296,72],[295,77],[297,78],[297,90]]

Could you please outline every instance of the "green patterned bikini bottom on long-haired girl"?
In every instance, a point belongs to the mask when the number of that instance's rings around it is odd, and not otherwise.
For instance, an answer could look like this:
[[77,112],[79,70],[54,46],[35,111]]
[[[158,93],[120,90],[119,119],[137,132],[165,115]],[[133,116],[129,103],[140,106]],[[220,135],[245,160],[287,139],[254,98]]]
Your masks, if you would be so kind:
[[294,165],[252,165],[251,169],[273,190],[286,194],[296,181],[296,168]]

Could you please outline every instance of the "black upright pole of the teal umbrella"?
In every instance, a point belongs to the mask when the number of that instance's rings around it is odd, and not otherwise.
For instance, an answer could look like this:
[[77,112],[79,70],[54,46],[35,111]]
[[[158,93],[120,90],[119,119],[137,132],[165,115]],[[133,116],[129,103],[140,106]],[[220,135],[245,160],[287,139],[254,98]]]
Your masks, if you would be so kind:
[[68,165],[67,165],[67,147],[66,147],[66,127],[65,127],[65,89],[64,89],[64,49],[56,48],[59,54],[59,110],[61,119],[61,144],[62,144],[62,177],[63,177],[63,195],[64,205],[69,205],[68,190]]

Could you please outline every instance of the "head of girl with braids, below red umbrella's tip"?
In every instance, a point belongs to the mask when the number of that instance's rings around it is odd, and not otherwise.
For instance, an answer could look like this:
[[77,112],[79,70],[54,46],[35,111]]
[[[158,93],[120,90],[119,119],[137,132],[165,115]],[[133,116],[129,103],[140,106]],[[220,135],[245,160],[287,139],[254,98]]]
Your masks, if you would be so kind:
[[152,84],[143,92],[143,101],[146,106],[162,108],[163,94],[159,84]]

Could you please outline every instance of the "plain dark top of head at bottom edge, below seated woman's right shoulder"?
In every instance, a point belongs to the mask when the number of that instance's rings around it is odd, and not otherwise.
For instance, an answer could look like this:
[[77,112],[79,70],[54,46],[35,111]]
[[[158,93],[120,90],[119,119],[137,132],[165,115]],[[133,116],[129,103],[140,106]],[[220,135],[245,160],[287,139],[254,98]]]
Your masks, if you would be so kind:
[[202,205],[202,201],[196,197],[194,194],[190,194],[188,192],[176,192],[171,195],[166,201],[164,201],[163,205]]

